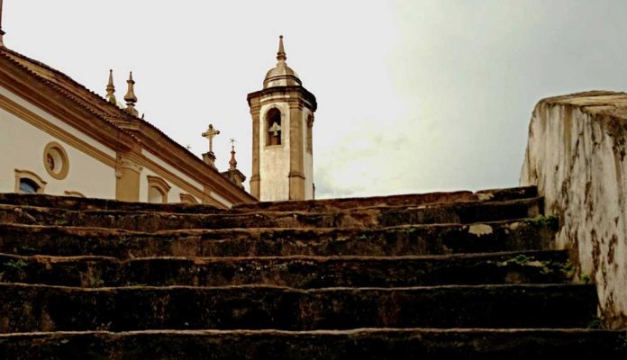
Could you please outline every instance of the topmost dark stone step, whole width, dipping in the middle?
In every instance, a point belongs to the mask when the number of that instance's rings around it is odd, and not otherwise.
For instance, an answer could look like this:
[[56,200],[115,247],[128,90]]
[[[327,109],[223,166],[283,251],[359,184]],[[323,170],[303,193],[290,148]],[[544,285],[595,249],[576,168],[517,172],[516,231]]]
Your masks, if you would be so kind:
[[[240,204],[234,210],[240,211],[337,211],[354,207],[371,206],[419,206],[436,202],[475,202],[507,201],[538,196],[535,186],[485,190],[477,193],[468,191],[450,193],[418,193],[392,196],[362,198],[344,198],[329,200],[311,200],[306,202],[259,202]],[[112,210],[112,211],[157,211],[177,213],[222,213],[223,210],[212,205],[189,205],[185,203],[146,203],[118,202],[107,199],[85,199],[69,196],[45,194],[0,193],[0,203],[20,206],[39,206],[74,211]]]

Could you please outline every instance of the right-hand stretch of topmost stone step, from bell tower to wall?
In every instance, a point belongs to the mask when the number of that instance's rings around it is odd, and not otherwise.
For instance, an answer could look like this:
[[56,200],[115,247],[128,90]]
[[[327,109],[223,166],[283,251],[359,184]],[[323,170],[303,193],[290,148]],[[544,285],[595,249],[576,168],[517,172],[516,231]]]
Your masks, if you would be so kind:
[[[438,202],[503,202],[538,196],[535,186],[484,190],[472,193],[459,191],[451,193],[416,193],[391,196],[354,197],[328,200],[308,200],[302,202],[255,202],[238,204],[233,210],[240,211],[337,211],[341,209],[372,206],[413,207]],[[1,202],[1,201],[0,201]]]

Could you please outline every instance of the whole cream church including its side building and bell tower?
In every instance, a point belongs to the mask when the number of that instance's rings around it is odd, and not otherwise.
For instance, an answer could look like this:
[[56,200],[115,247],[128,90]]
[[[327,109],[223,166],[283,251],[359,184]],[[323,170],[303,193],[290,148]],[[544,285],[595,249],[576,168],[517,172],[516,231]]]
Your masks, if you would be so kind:
[[106,94],[95,94],[59,70],[8,49],[3,35],[0,25],[0,193],[220,208],[314,198],[316,100],[287,67],[282,37],[277,66],[268,71],[263,90],[248,95],[253,160],[247,193],[234,148],[227,171],[214,166],[212,143],[220,131],[213,125],[203,133],[210,146],[201,159],[140,116],[132,73],[122,103],[113,71]]

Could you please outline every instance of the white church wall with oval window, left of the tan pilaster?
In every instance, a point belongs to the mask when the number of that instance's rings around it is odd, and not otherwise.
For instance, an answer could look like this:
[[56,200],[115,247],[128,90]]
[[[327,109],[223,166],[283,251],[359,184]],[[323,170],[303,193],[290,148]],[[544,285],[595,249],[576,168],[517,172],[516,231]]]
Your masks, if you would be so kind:
[[[102,158],[96,159],[87,155],[64,139],[76,137],[88,146],[102,151],[105,159],[111,155],[109,160],[114,162],[115,152],[112,149],[25,102],[5,88],[0,87],[0,94],[10,99],[14,109],[25,109],[32,115],[26,121],[14,112],[0,109],[0,192],[15,191],[15,169],[19,169],[40,176],[47,183],[43,193],[65,195],[68,191],[82,193],[87,197],[115,198],[114,167],[104,164]],[[47,122],[53,126],[45,131],[33,125],[33,121]],[[61,135],[55,136],[54,133]],[[59,143],[68,155],[68,175],[63,179],[51,176],[44,166],[44,148],[51,141]]]

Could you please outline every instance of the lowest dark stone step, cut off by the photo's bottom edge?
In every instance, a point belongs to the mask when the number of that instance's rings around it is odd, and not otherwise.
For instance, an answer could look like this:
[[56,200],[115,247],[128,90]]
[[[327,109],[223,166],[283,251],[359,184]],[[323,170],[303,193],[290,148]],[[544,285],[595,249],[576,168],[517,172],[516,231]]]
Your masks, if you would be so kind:
[[624,331],[588,329],[151,330],[0,335],[5,359],[556,360],[627,358]]

